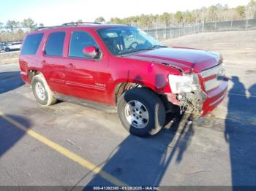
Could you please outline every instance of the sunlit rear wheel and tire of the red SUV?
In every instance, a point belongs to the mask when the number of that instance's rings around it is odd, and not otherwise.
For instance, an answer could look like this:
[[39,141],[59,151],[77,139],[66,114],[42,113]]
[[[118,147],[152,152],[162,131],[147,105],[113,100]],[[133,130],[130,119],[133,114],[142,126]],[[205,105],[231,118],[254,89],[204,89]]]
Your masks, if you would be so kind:
[[34,97],[41,106],[50,106],[56,103],[57,100],[42,74],[34,76],[31,85]]

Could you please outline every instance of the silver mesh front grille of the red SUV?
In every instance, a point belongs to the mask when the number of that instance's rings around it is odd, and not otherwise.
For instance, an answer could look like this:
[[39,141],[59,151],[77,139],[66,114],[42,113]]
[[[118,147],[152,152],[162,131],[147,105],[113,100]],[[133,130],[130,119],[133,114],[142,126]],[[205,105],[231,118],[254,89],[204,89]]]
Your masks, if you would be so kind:
[[203,82],[206,91],[213,90],[219,86],[220,80],[217,79],[219,71],[222,70],[222,64],[211,69],[206,69],[200,72],[200,75],[205,79],[207,77],[214,77]]

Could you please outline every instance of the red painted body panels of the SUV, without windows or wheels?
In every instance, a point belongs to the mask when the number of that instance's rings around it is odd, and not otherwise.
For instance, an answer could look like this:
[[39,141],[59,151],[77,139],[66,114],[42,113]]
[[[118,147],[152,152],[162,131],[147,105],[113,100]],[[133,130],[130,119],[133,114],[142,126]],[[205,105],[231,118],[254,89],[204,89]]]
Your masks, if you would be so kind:
[[[29,71],[37,70],[42,72],[53,92],[115,105],[115,87],[118,83],[140,83],[156,93],[170,94],[168,74],[181,75],[178,69],[185,73],[200,72],[216,66],[219,61],[218,54],[181,47],[147,50],[123,57],[114,56],[108,51],[96,31],[99,28],[111,27],[117,26],[68,26],[34,32],[33,34],[44,33],[44,36],[36,55],[20,55],[22,79],[31,83],[28,77]],[[49,34],[56,31],[66,33],[62,58],[44,54],[45,42]],[[102,51],[102,58],[97,60],[69,58],[69,39],[72,31],[87,31],[91,34],[99,45],[99,50]],[[94,50],[90,47],[88,51]],[[201,78],[200,83],[204,90]],[[203,104],[203,114],[214,109],[214,106],[219,104],[219,98],[226,92],[227,83],[223,83],[208,94],[209,98]],[[214,103],[214,101],[218,102]]]

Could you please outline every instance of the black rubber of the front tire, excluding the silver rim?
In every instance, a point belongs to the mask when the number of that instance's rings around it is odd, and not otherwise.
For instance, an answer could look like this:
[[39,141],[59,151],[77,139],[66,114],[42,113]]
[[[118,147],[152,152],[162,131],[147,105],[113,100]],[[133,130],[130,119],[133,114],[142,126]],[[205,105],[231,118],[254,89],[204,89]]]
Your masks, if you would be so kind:
[[[149,121],[145,128],[135,128],[125,117],[125,106],[129,101],[140,101],[148,110]],[[150,136],[161,130],[165,124],[165,107],[159,97],[145,87],[138,87],[125,92],[118,101],[118,116],[122,125],[135,136]]]

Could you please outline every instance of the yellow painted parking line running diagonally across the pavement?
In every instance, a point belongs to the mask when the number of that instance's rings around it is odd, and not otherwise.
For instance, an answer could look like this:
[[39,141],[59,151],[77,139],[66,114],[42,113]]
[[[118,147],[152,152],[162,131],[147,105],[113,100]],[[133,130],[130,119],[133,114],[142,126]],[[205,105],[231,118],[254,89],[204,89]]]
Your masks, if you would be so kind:
[[97,165],[94,165],[94,163],[91,163],[88,160],[83,159],[83,157],[80,157],[79,155],[76,155],[74,152],[71,152],[64,147],[61,147],[61,145],[56,144],[53,141],[50,141],[49,139],[45,138],[45,136],[41,136],[39,133],[35,132],[34,130],[26,128],[24,125],[20,124],[19,122],[16,122],[15,120],[12,120],[10,117],[8,117],[6,114],[4,114],[1,111],[0,111],[0,117],[10,122],[16,128],[23,130],[27,135],[33,137],[34,139],[37,139],[38,141],[42,142],[48,147],[61,153],[65,157],[68,157],[69,159],[75,161],[76,163],[82,165],[83,167],[88,168],[90,171],[93,171],[95,174],[99,174],[100,176],[102,176],[102,178],[108,180],[108,182],[111,182],[116,186],[127,186],[127,184],[125,184],[124,182],[121,182],[120,180],[116,179],[116,177],[103,171],[102,168],[98,167]]

